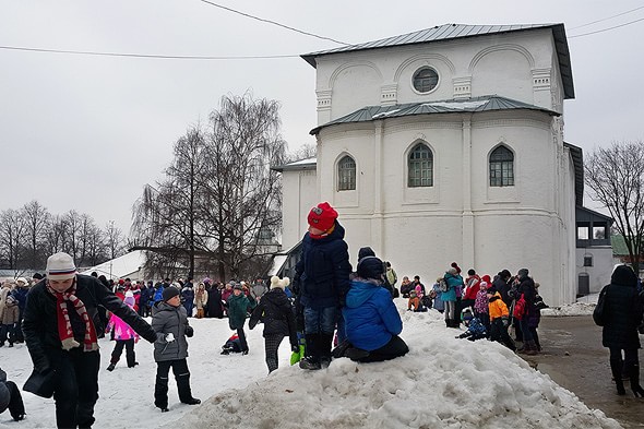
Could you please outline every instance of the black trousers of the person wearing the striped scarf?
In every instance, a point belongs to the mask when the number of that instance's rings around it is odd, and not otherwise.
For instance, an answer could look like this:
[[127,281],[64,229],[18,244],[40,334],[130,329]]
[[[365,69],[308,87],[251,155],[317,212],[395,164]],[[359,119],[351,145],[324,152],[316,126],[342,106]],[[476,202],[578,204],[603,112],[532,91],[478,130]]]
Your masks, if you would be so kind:
[[98,401],[100,355],[82,347],[60,350],[50,356],[56,377],[56,425],[59,428],[90,428],[94,424],[94,405]]

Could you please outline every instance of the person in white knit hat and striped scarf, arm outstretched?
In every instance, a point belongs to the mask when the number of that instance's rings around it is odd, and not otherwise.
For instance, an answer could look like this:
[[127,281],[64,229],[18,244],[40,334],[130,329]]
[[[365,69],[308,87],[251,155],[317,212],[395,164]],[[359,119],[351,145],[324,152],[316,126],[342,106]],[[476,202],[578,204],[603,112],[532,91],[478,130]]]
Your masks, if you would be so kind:
[[[27,295],[23,332],[34,364],[25,383],[33,393],[53,394],[59,428],[90,428],[98,400],[97,306],[121,318],[153,343],[154,330],[97,278],[76,274],[72,257],[56,253],[47,259],[47,278]],[[39,384],[39,385],[38,385]],[[46,384],[46,385],[45,385]]]

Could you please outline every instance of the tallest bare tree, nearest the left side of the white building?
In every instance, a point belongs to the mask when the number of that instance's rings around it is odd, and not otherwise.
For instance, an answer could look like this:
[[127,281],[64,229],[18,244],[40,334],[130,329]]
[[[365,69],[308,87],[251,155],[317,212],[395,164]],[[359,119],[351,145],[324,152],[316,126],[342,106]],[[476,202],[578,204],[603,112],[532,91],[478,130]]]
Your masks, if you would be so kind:
[[281,226],[282,182],[270,168],[285,159],[278,112],[277,102],[247,93],[223,97],[219,110],[211,114],[213,210],[205,213],[204,226],[212,238],[206,242],[216,243],[220,278],[226,271],[236,277],[245,262],[266,257],[261,239]]

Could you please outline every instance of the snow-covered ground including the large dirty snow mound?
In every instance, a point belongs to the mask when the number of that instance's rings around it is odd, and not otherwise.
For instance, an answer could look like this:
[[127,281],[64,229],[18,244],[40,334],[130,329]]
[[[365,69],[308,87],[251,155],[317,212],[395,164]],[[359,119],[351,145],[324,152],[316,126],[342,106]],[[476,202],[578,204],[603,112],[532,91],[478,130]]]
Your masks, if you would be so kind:
[[[96,428],[619,428],[588,409],[548,376],[497,343],[456,339],[436,311],[404,311],[401,335],[407,356],[379,364],[336,359],[329,369],[289,367],[288,342],[281,368],[266,376],[261,325],[249,332],[250,354],[219,355],[230,335],[226,320],[192,319],[188,366],[200,406],[179,403],[170,380],[169,413],[153,405],[156,365],[152,345],[136,345],[140,365],[124,356],[106,370],[112,344],[102,339],[100,398]],[[248,330],[247,330],[248,331]],[[24,345],[0,348],[0,365],[21,386],[31,372]],[[52,428],[52,400],[23,392],[26,419],[0,415],[0,428]]]

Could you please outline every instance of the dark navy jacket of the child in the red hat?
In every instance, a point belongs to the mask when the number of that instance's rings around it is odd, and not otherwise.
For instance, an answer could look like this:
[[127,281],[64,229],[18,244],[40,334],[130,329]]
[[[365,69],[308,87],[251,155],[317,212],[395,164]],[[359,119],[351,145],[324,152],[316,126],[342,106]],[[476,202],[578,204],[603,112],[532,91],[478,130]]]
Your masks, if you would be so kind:
[[313,239],[309,233],[305,234],[302,253],[295,270],[303,307],[323,309],[337,307],[344,301],[349,289],[351,264],[344,228],[337,221],[326,237]]

